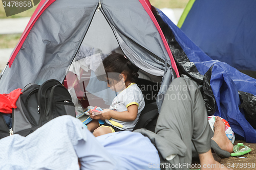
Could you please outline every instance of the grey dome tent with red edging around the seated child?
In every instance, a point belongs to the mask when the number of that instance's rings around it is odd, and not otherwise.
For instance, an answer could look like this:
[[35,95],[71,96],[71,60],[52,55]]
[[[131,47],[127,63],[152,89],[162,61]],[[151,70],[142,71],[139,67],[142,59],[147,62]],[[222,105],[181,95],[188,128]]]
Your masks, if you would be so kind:
[[[86,52],[78,52],[81,45]],[[103,59],[113,51],[138,66],[140,76],[144,72],[151,81],[160,78],[161,105],[162,94],[179,72],[150,3],[138,0],[41,1],[2,72],[0,93],[49,79],[62,83],[68,70],[77,69],[70,67],[75,56],[99,54]]]

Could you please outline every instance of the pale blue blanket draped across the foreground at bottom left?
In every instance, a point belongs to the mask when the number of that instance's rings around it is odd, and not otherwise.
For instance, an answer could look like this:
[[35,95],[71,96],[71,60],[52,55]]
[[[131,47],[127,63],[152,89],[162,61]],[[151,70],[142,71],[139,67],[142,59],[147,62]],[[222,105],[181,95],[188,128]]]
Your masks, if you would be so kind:
[[[152,169],[160,164],[150,139],[119,132],[95,138],[72,116],[59,116],[27,137],[0,140],[0,169]],[[160,169],[160,168],[156,168]]]

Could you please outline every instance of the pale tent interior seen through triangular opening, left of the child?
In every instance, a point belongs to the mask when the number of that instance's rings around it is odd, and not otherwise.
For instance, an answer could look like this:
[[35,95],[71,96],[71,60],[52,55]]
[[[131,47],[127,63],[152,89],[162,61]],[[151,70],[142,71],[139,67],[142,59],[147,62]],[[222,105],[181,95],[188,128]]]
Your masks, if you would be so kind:
[[95,72],[98,67],[103,67],[102,60],[114,52],[123,54],[98,6],[64,81],[76,111],[88,106],[103,109],[111,105],[116,92],[109,89],[106,82],[99,81]]

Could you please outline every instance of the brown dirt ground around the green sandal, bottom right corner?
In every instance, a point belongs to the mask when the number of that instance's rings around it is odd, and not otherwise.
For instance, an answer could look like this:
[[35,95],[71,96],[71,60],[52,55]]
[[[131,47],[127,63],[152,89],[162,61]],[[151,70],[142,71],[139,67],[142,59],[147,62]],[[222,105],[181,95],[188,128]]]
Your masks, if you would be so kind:
[[[238,158],[238,157],[222,158],[220,163],[232,169],[239,169],[239,170],[256,169],[256,143],[246,143],[243,140],[235,140],[234,145],[236,145],[237,143],[243,143],[244,145],[246,145],[251,149],[251,152],[240,156],[245,158]],[[240,149],[242,149],[242,147]],[[193,160],[193,164],[195,163],[198,164],[199,160]]]

